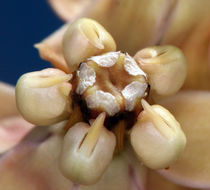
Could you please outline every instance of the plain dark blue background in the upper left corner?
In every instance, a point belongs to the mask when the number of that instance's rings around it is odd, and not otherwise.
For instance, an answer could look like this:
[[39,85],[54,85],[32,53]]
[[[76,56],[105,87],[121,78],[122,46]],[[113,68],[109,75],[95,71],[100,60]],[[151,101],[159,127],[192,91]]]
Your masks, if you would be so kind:
[[0,81],[15,85],[23,73],[51,66],[33,47],[63,24],[47,0],[3,1],[0,23]]

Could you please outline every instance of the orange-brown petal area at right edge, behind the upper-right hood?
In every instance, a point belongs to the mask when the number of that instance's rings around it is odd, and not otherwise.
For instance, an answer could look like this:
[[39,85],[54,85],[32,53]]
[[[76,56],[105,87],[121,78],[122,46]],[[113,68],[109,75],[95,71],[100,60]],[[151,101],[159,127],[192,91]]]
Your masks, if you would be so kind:
[[184,88],[210,90],[210,23],[202,22],[182,49],[189,63]]

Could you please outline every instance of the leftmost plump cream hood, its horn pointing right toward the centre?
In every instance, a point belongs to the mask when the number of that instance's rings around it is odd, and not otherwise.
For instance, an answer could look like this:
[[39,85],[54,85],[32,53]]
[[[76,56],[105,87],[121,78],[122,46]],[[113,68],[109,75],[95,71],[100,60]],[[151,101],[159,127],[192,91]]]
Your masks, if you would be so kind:
[[71,75],[58,69],[24,74],[16,85],[16,103],[22,116],[35,125],[50,125],[71,112]]

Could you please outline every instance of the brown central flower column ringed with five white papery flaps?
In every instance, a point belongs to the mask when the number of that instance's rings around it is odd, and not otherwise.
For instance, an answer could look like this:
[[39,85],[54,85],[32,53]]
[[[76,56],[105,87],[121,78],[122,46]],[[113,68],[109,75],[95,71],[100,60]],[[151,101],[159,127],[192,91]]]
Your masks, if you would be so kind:
[[89,119],[101,112],[116,118],[139,114],[140,101],[148,95],[148,82],[131,56],[109,52],[81,63],[73,89]]

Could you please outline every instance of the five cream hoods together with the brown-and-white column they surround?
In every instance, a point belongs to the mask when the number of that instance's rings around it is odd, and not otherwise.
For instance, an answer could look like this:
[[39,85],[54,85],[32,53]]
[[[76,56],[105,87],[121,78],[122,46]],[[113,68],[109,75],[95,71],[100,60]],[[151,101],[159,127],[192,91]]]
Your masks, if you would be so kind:
[[23,117],[36,125],[69,118],[59,159],[65,177],[79,185],[95,184],[129,138],[140,161],[151,169],[177,160],[186,144],[179,123],[144,99],[150,93],[166,96],[179,90],[186,63],[178,48],[150,47],[132,58],[116,52],[101,25],[82,18],[64,34],[63,54],[72,74],[58,69],[24,74],[16,99]]

